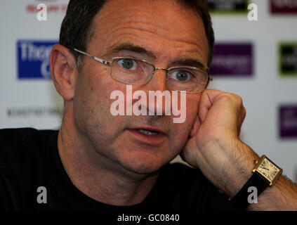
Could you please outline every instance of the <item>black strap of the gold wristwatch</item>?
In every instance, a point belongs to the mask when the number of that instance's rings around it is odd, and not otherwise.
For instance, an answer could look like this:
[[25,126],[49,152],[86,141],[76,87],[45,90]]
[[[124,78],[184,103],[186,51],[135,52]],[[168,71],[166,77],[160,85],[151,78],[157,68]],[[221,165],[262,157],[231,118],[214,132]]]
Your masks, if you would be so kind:
[[253,172],[253,175],[250,177],[250,179],[246,182],[246,184],[244,184],[242,189],[240,189],[240,191],[231,199],[231,202],[239,209],[246,210],[246,208],[250,204],[248,201],[248,196],[251,194],[250,192],[248,192],[249,187],[256,187],[257,193],[258,195],[260,195],[260,193],[263,193],[265,188],[267,188],[269,185],[270,181],[268,181],[268,179],[265,179],[264,176],[255,171]]

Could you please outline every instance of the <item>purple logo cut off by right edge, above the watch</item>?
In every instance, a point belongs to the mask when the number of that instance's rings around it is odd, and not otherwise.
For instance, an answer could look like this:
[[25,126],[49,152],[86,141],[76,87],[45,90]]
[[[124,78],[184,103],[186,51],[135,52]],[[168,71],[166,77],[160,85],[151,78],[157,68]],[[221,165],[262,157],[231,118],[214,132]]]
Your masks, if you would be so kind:
[[279,107],[279,136],[281,139],[297,138],[297,104]]

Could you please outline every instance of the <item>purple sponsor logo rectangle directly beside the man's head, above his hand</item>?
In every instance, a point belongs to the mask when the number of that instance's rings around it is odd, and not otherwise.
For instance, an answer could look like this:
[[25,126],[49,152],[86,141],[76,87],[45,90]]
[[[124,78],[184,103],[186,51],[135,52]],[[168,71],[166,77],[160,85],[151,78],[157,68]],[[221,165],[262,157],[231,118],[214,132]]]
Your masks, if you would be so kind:
[[210,70],[213,76],[251,77],[253,45],[251,43],[215,44]]

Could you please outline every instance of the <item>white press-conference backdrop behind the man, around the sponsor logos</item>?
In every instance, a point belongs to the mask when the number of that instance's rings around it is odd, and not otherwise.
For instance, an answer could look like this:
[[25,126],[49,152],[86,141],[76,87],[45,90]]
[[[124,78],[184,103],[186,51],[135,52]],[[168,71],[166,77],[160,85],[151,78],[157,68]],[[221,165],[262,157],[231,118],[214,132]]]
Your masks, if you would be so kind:
[[[37,20],[32,7],[37,0],[1,0],[0,128],[35,127],[58,129],[62,98],[51,79],[19,79],[17,42],[58,41],[67,0],[44,1],[47,21]],[[214,77],[210,88],[242,96],[247,114],[242,140],[259,155],[265,154],[297,181],[297,139],[280,139],[279,105],[297,104],[297,75],[279,75],[278,46],[282,41],[297,41],[297,16],[271,15],[268,0],[253,1],[258,6],[258,21],[246,15],[213,15],[218,42],[253,44],[254,68],[251,77]]]

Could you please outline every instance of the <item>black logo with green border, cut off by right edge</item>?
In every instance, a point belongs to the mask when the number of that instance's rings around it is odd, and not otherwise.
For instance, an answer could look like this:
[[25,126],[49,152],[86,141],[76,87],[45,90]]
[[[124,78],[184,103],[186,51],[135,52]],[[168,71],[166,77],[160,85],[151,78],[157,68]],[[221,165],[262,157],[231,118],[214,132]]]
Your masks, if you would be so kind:
[[279,44],[279,74],[297,75],[297,41]]

